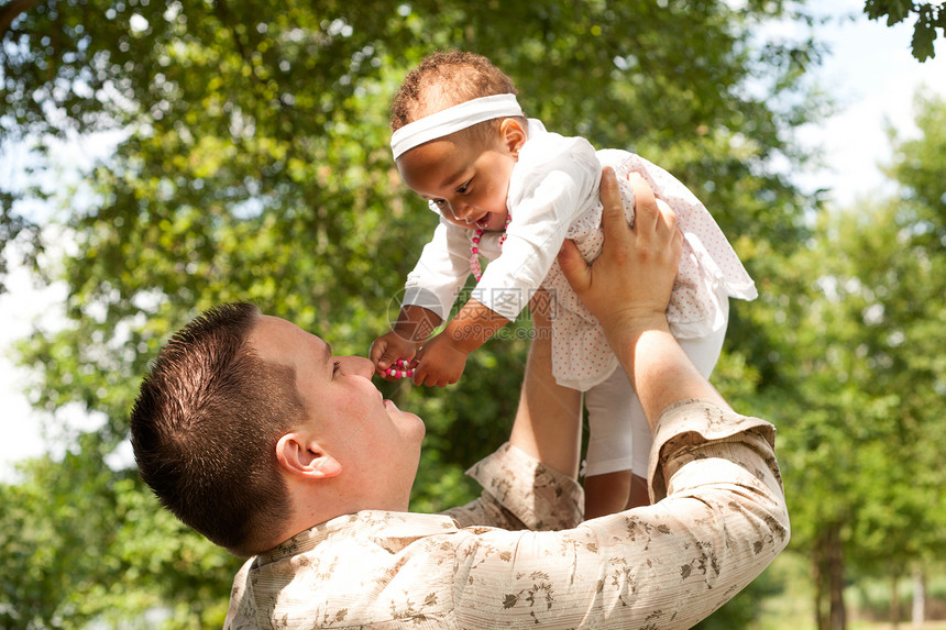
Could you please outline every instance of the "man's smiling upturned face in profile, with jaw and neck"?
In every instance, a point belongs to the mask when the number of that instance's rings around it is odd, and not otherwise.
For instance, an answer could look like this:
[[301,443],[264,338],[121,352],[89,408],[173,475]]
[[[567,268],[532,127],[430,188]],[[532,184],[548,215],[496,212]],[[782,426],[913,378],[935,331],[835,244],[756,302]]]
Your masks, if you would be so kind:
[[383,398],[371,382],[371,361],[333,356],[318,336],[270,316],[260,317],[250,343],[264,361],[295,369],[305,429],[364,495],[364,509],[406,510],[425,427]]

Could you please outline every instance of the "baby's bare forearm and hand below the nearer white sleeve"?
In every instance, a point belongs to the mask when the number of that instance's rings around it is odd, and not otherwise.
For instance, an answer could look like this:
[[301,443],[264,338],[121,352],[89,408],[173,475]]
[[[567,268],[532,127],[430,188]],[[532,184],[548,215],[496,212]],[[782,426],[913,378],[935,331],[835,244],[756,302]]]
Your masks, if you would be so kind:
[[424,344],[414,369],[414,383],[438,387],[457,383],[470,353],[507,323],[508,319],[470,298],[443,332]]

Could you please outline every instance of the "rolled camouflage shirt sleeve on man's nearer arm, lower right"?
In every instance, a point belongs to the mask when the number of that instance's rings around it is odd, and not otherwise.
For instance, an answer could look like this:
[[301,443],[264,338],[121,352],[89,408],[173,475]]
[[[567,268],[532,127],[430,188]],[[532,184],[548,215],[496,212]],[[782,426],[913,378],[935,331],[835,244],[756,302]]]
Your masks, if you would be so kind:
[[657,432],[659,502],[560,532],[462,530],[459,625],[692,627],[788,544],[773,435],[762,420],[684,401]]

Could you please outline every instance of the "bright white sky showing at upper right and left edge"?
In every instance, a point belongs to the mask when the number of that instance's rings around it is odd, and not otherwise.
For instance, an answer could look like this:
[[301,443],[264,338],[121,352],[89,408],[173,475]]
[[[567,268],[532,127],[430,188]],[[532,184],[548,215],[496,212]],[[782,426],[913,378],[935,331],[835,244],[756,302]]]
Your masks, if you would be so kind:
[[[936,58],[921,64],[910,54],[911,24],[889,27],[886,22],[871,22],[862,14],[862,0],[812,4],[833,16],[818,27],[820,38],[831,45],[831,52],[816,78],[839,107],[836,115],[801,131],[804,142],[824,150],[828,166],[799,174],[798,180],[809,189],[832,189],[832,203],[849,207],[870,195],[889,191],[878,168],[890,158],[884,128],[892,124],[904,136],[916,133],[915,91],[924,86],[946,98],[946,41],[941,36]],[[76,155],[70,158],[81,162],[89,159],[96,147],[76,146],[72,151]],[[42,454],[50,450],[47,444],[55,444],[54,454],[62,451],[62,436],[44,439],[44,424],[52,428],[66,420],[79,428],[96,425],[96,420],[79,409],[61,410],[54,422],[31,409],[23,394],[30,374],[10,363],[10,344],[29,334],[37,319],[55,321],[64,291],[62,287],[36,290],[23,269],[14,269],[7,281],[9,292],[0,295],[0,482],[15,480],[15,462]],[[120,461],[129,462],[128,451]]]

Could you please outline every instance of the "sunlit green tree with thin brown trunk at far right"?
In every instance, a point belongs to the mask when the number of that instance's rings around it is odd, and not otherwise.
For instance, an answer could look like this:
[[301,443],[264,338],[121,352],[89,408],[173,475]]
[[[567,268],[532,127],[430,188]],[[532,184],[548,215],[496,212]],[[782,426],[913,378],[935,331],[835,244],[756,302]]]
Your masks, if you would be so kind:
[[[812,557],[820,629],[846,625],[851,574],[899,577],[939,557],[946,483],[943,200],[946,103],[921,98],[894,140],[893,199],[824,217],[783,269],[779,353],[793,544]],[[773,313],[778,321],[780,317]],[[788,401],[788,404],[787,404]],[[773,412],[779,417],[779,412]]]

